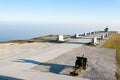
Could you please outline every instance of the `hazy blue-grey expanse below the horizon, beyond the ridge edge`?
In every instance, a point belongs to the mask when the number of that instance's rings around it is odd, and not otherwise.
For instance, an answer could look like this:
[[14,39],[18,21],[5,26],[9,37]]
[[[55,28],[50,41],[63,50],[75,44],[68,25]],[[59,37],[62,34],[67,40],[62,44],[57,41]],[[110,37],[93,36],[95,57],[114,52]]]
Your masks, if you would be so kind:
[[0,41],[31,39],[50,34],[84,33],[94,31],[95,28],[88,25],[0,25]]

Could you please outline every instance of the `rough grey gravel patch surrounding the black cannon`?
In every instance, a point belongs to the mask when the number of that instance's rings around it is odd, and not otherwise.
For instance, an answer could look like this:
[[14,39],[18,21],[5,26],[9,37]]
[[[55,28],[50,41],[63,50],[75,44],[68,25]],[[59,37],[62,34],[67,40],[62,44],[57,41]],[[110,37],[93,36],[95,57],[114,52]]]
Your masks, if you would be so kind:
[[91,46],[76,48],[32,69],[70,76],[69,72],[73,71],[76,56],[82,56],[83,54],[88,58],[88,66],[78,77],[91,80],[116,80],[115,50]]

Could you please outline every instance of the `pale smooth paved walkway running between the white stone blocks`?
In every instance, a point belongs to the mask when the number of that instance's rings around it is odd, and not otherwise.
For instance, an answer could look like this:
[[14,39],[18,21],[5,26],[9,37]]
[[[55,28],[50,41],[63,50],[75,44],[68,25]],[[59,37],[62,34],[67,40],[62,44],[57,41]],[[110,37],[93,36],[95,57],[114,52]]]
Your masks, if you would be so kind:
[[[37,50],[26,50],[26,54],[19,54],[0,60],[0,80],[87,80],[70,76],[43,73],[31,68],[40,62],[45,62],[56,58],[64,53],[72,51],[91,41],[91,37],[101,34],[91,35],[83,39],[71,39],[70,42],[55,44],[53,46],[38,48]],[[49,76],[49,77],[48,77]]]

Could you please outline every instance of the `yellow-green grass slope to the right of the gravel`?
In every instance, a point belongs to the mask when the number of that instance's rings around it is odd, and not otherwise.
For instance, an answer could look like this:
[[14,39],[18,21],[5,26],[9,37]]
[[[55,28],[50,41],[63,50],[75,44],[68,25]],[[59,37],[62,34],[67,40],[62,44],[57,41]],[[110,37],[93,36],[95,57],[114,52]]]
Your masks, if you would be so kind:
[[116,49],[116,60],[118,64],[117,78],[120,80],[120,34],[113,34],[112,37],[103,45],[103,48]]

